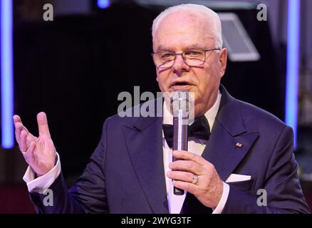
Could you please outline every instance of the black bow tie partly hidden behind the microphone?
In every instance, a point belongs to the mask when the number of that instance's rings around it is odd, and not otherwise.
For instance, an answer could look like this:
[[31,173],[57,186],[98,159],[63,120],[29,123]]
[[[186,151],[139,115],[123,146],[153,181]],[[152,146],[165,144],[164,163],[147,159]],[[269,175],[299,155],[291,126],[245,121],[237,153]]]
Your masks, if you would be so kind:
[[[167,145],[172,148],[173,125],[163,124],[162,130],[164,130]],[[192,125],[189,125],[187,136],[203,140],[209,140],[210,128],[209,123],[204,115],[202,115],[201,118],[195,119],[194,123],[192,123]]]

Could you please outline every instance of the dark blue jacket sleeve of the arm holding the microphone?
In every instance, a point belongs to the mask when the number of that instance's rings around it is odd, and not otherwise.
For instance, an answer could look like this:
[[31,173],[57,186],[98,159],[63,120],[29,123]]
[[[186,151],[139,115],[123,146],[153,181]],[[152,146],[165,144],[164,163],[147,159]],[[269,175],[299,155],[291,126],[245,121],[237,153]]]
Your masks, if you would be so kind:
[[276,141],[266,170],[263,186],[266,206],[264,203],[257,204],[261,196],[257,195],[257,190],[244,192],[229,183],[229,197],[222,213],[310,213],[297,169],[293,155],[293,131],[286,126]]

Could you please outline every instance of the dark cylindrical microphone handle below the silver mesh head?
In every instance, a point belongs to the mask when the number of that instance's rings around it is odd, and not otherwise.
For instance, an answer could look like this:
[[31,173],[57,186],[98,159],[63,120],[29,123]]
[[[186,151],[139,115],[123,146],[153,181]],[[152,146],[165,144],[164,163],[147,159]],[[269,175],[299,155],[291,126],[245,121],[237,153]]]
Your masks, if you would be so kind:
[[[183,111],[179,110],[179,115],[173,118],[173,150],[186,150],[187,151],[187,130],[188,130],[188,116],[182,115]],[[172,157],[176,161],[175,157]],[[175,195],[184,195],[184,190],[177,187],[173,188]]]

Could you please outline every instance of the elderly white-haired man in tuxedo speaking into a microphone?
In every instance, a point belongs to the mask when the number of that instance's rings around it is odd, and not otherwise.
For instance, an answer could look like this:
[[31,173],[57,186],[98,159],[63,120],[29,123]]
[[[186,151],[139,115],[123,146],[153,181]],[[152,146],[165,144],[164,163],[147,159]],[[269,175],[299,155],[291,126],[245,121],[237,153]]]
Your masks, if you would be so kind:
[[[38,138],[15,115],[16,140],[29,165],[24,180],[36,210],[308,213],[291,128],[220,85],[227,49],[217,14],[194,4],[173,6],[157,16],[152,37],[160,90],[194,92],[194,116],[204,136],[190,137],[189,151],[172,152],[170,135],[162,129],[172,124],[165,104],[164,118],[114,115],[105,121],[98,147],[68,192],[45,113],[37,115]],[[184,195],[174,195],[173,187]],[[53,206],[43,204],[47,189],[53,191]]]

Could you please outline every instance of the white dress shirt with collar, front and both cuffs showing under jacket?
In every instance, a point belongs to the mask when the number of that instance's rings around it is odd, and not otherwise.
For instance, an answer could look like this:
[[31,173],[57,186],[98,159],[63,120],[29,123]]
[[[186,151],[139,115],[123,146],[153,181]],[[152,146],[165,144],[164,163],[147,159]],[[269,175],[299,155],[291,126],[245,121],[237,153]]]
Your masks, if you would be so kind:
[[[210,108],[207,111],[207,113],[204,114],[208,120],[210,129],[212,129],[212,125],[214,124],[214,119],[216,118],[216,115],[219,109],[220,100],[221,100],[221,93],[218,93],[217,100],[215,101],[214,105],[212,106],[212,108]],[[170,110],[167,110],[167,108],[165,107],[166,105],[164,103],[163,123],[172,125],[172,114],[170,113]],[[163,155],[164,155],[163,158],[164,158],[165,180],[166,180],[166,190],[167,190],[169,212],[170,214],[178,214],[180,213],[182,209],[182,205],[185,199],[186,192],[184,193],[184,195],[180,195],[180,196],[173,194],[172,180],[166,175],[167,171],[170,170],[169,164],[170,162],[172,162],[172,150],[170,149],[170,147],[168,147],[163,132],[162,132],[162,142],[163,142],[162,148],[163,148]],[[206,145],[207,145],[207,140],[189,138],[188,150],[189,152],[194,152],[197,155],[202,155],[202,152],[204,151],[204,147],[206,147]],[[60,173],[61,173],[61,160],[60,160],[59,155],[57,154],[56,165],[53,167],[52,170],[47,172],[45,175],[41,177],[37,177],[35,179],[35,173],[31,169],[31,167],[28,166],[25,172],[25,175],[23,177],[23,180],[26,182],[29,192],[42,193],[53,184],[53,182],[56,180],[58,175],[60,175]],[[229,195],[229,185],[224,183],[222,197],[219,201],[219,204],[214,209],[213,214],[219,214],[222,212],[222,209],[225,203],[227,202],[228,195]]]

